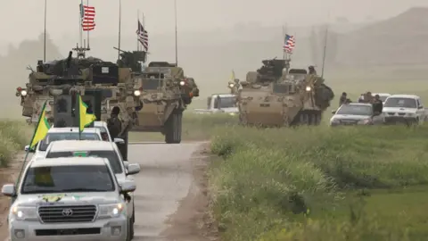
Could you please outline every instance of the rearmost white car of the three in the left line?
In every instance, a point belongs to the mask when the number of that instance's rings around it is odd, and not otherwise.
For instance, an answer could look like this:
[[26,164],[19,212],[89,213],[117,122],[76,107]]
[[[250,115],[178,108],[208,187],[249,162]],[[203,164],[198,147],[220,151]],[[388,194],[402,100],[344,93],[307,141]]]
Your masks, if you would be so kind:
[[26,152],[34,153],[31,160],[45,157],[47,146],[53,141],[58,140],[102,140],[101,131],[95,128],[83,129],[82,133],[78,134],[78,128],[54,128],[47,131],[46,137],[39,141],[34,150],[29,150],[29,145],[26,145]]

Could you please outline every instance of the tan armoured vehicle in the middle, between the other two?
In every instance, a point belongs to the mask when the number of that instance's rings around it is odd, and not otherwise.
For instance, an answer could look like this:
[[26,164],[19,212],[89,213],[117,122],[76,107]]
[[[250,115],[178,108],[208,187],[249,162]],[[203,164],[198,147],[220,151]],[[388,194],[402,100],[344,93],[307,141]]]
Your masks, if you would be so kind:
[[144,104],[133,130],[161,132],[166,143],[180,143],[183,112],[199,96],[194,79],[186,78],[181,67],[169,62],[150,62],[144,71],[134,72],[133,79]]

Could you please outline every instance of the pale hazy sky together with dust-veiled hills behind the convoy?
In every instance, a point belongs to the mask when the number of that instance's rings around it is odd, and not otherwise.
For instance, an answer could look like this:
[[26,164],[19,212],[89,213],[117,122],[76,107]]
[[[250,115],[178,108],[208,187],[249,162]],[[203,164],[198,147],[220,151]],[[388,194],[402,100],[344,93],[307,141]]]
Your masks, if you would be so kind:
[[[44,57],[44,0],[5,1],[0,9],[0,108],[19,117],[16,87]],[[47,0],[46,61],[67,56],[79,41],[80,1]],[[86,3],[86,1],[84,1]],[[119,0],[89,0],[96,9],[87,55],[115,62]],[[121,48],[136,49],[136,19],[149,32],[149,62],[175,61],[174,1],[124,0]],[[322,65],[325,73],[368,66],[428,65],[426,0],[197,1],[177,0],[178,64],[197,80],[202,98],[225,92],[230,72],[245,78],[262,59],[282,58],[284,32],[295,35],[292,66]],[[144,17],[143,17],[144,16]],[[85,35],[86,36],[86,35]]]

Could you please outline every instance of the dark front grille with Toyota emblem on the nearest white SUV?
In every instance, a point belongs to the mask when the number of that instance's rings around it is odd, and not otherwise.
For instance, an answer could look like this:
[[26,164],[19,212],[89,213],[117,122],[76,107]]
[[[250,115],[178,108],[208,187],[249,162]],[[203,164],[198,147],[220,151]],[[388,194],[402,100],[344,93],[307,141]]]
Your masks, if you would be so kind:
[[95,219],[95,205],[63,205],[38,207],[38,216],[44,223],[88,222]]

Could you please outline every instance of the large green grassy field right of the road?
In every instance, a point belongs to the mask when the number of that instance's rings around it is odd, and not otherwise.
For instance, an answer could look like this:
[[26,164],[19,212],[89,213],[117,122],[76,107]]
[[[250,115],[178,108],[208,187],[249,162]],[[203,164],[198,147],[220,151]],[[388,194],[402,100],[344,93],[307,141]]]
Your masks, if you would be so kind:
[[428,126],[216,129],[224,240],[425,240]]

